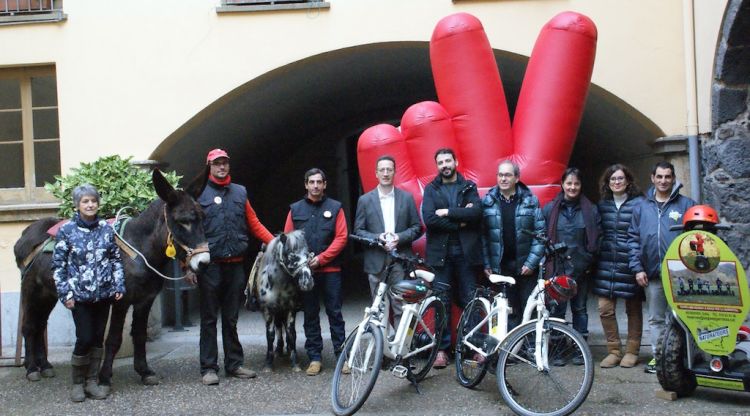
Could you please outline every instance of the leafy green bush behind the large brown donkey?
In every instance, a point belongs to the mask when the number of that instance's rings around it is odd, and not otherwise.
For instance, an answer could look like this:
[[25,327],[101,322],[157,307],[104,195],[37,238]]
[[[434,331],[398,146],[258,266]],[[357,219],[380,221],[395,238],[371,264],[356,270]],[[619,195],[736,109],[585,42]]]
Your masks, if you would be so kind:
[[[151,183],[151,172],[130,164],[130,159],[120,156],[105,156],[92,163],[81,163],[71,169],[70,174],[55,176],[54,183],[44,184],[44,189],[62,203],[58,215],[63,218],[73,216],[73,188],[90,183],[99,190],[101,204],[99,216],[113,218],[122,207],[132,207],[141,212],[156,196]],[[177,187],[180,176],[177,173],[165,173],[164,177],[172,186]],[[134,212],[129,211],[133,215]]]

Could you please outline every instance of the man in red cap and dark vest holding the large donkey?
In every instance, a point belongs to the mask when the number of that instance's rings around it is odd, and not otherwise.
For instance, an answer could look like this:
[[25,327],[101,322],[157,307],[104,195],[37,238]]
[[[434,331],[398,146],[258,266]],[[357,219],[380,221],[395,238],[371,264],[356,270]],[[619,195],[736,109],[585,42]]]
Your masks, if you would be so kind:
[[244,355],[237,336],[237,316],[242,289],[247,281],[243,260],[248,234],[264,243],[273,235],[261,224],[247,200],[247,190],[232,183],[229,155],[222,149],[208,152],[208,180],[198,202],[206,214],[203,225],[211,250],[211,264],[198,279],[201,294],[200,363],[205,385],[219,384],[216,322],[221,311],[221,339],[227,376],[253,378],[255,372],[242,366]]

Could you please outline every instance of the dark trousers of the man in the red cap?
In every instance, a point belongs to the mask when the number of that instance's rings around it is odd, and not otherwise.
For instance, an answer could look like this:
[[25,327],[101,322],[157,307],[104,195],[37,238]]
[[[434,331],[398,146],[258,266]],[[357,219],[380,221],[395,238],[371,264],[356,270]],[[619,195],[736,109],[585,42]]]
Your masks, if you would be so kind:
[[224,369],[232,372],[244,362],[237,336],[237,317],[242,291],[247,284],[242,263],[211,263],[198,278],[201,294],[201,374],[219,371],[216,322],[221,311],[221,340],[224,344]]

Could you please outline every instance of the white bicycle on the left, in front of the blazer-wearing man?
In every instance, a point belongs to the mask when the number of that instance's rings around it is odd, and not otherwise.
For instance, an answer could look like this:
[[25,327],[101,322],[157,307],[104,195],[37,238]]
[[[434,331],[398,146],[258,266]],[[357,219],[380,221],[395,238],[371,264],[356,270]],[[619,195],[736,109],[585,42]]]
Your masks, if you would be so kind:
[[[350,238],[365,244],[380,244],[354,235]],[[435,287],[430,285],[435,275],[417,269],[423,266],[421,259],[395,252],[390,255],[415,280],[391,286],[381,282],[372,305],[365,308],[364,318],[344,343],[331,386],[331,404],[336,415],[351,415],[362,407],[375,386],[384,356],[391,360],[391,374],[408,379],[417,389],[417,383],[427,376],[435,362],[446,318],[445,306],[434,293],[447,287],[439,283]],[[386,296],[386,290],[404,302],[395,333],[389,326],[390,296]],[[343,371],[347,368],[348,371]]]

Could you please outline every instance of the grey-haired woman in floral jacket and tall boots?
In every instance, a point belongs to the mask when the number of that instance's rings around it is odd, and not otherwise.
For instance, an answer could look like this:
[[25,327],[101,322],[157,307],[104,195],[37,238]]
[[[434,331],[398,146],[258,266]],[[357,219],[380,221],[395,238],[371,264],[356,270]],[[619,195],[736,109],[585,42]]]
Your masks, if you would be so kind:
[[72,311],[76,326],[70,399],[82,402],[86,397],[105,399],[109,393],[99,386],[97,374],[109,308],[125,293],[125,275],[114,230],[97,216],[99,192],[88,184],[78,186],[73,201],[76,213],[60,227],[52,269],[57,296]]

